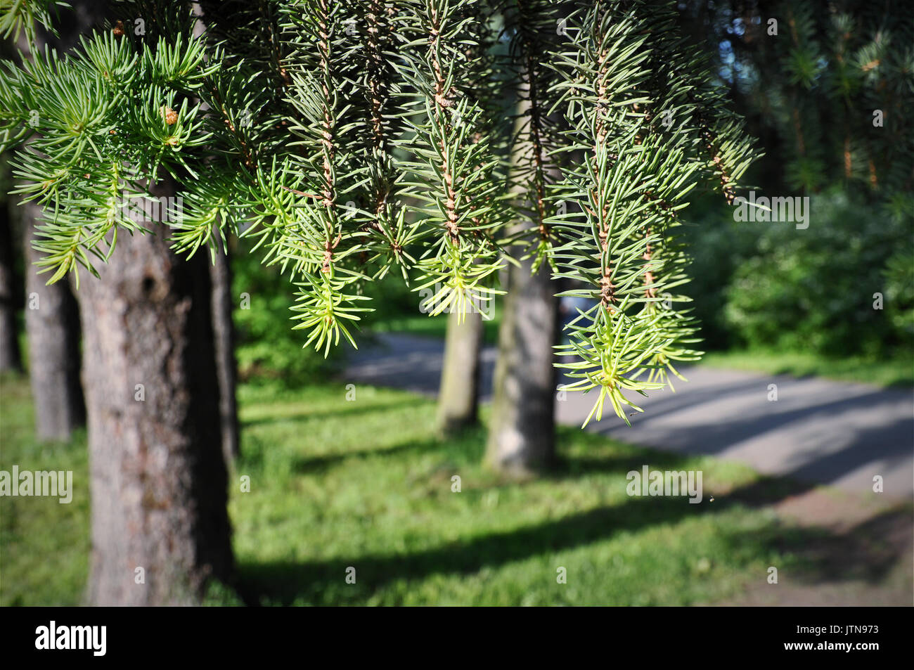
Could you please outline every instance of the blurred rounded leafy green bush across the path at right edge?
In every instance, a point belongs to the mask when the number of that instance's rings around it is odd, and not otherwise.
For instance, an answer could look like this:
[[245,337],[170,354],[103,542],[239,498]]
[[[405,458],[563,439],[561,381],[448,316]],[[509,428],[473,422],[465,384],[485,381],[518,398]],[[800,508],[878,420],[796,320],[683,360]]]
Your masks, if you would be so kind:
[[[739,261],[724,321],[749,347],[825,355],[881,356],[911,342],[911,219],[850,202],[840,192],[813,196],[808,229],[789,223],[732,223],[758,229],[754,252]],[[882,293],[885,309],[874,308]]]

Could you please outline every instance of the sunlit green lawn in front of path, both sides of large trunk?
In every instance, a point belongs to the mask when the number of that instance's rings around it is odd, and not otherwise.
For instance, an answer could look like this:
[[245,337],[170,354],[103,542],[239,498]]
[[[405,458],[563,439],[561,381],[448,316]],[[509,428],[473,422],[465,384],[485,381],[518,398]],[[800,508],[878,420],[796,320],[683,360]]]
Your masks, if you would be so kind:
[[[802,548],[818,531],[753,506],[740,492],[782,484],[739,465],[562,429],[558,469],[510,483],[480,467],[482,431],[434,437],[430,400],[345,394],[330,383],[239,390],[230,514],[249,602],[682,605],[735,598],[771,565],[809,567]],[[5,378],[0,468],[73,470],[75,495],[70,505],[0,498],[0,604],[78,604],[90,549],[85,436],[37,446],[31,425],[27,382]],[[644,463],[703,471],[704,502],[629,497],[625,474]]]

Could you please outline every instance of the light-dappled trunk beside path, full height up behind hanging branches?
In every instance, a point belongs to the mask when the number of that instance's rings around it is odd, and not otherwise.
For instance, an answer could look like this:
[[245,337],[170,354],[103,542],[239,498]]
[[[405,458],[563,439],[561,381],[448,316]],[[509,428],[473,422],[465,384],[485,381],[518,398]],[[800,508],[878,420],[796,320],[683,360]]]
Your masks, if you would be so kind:
[[[544,54],[558,50],[558,4],[521,0],[505,4],[510,33],[509,71],[517,107],[511,187],[515,221],[508,229],[520,244],[510,247],[515,262],[506,270],[505,307],[498,334],[493,380],[493,411],[486,461],[495,470],[526,474],[555,459],[558,296],[549,263],[531,258],[554,241],[547,224],[556,203],[547,198],[560,178],[557,149],[562,146],[555,112],[554,70]],[[567,7],[566,7],[567,10]],[[530,240],[535,241],[535,246]]]

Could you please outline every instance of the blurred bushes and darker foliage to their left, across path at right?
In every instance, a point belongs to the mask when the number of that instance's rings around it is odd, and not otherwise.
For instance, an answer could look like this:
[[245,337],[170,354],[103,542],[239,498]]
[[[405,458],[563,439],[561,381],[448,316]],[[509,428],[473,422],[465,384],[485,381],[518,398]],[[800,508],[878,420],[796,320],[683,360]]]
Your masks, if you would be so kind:
[[[736,222],[696,207],[688,228],[705,346],[822,356],[901,356],[914,346],[910,221],[839,187],[811,196],[812,222]],[[696,218],[696,212],[692,213]],[[883,309],[874,308],[882,293]]]

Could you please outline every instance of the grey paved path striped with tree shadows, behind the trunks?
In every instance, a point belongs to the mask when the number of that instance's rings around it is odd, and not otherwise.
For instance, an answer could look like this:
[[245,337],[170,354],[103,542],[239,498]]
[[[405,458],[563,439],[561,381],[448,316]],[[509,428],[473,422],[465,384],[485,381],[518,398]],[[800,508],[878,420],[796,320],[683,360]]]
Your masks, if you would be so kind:
[[[345,378],[434,395],[443,344],[413,335],[379,335],[349,359]],[[483,399],[492,387],[495,350],[484,349]],[[790,378],[708,367],[683,370],[676,392],[638,397],[643,414],[632,428],[607,409],[588,430],[666,451],[707,453],[756,471],[832,484],[857,494],[884,478],[885,495],[914,495],[914,392],[820,378]],[[778,399],[768,399],[777,384]],[[580,425],[594,393],[557,402],[561,423]]]

